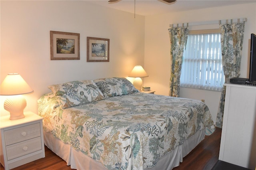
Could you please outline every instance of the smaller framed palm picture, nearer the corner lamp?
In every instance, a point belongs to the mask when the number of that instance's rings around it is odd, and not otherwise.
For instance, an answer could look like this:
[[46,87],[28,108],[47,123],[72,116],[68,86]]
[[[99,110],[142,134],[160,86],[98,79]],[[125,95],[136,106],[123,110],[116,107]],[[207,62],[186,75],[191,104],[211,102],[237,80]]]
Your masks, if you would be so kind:
[[109,39],[87,37],[87,62],[109,62]]

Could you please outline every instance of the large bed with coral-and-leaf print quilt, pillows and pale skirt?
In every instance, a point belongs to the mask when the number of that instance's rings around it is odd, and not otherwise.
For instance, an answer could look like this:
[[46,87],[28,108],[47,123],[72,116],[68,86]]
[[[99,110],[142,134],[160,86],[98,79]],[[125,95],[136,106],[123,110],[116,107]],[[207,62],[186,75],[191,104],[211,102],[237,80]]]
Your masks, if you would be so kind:
[[141,93],[125,78],[48,88],[44,143],[73,169],[172,169],[215,130],[201,101]]

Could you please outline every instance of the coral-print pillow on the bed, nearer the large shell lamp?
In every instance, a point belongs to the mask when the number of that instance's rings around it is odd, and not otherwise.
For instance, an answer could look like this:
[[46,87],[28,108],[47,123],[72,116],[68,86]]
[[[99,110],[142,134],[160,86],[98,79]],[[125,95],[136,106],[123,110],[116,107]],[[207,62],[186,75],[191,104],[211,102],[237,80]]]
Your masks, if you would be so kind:
[[48,88],[59,98],[62,109],[104,99],[93,80],[71,81]]

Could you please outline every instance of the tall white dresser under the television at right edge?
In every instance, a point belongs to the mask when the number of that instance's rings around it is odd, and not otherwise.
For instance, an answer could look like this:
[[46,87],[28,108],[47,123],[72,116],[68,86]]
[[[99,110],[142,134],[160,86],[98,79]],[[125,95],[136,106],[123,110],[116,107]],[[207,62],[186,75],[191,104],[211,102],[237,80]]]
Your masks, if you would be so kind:
[[226,83],[219,160],[255,170],[256,87]]

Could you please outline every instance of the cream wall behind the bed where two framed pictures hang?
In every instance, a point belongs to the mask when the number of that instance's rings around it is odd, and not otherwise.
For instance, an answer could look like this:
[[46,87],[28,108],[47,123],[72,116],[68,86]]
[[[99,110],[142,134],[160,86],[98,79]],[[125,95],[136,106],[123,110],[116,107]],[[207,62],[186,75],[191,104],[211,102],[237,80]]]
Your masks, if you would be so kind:
[[[0,1],[0,80],[20,73],[34,93],[25,111],[48,85],[102,77],[127,77],[144,64],[144,16],[90,4],[89,1]],[[80,60],[50,60],[50,30],[80,33]],[[86,37],[110,39],[110,62],[86,62]],[[8,115],[0,96],[1,115]]]

